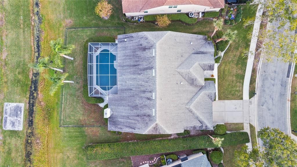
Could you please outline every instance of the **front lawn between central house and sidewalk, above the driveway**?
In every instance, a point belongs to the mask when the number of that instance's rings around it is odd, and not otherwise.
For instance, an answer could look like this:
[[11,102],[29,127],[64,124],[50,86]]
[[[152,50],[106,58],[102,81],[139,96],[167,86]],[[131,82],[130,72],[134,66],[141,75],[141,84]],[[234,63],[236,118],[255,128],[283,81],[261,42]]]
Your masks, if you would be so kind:
[[[242,18],[255,17],[257,6],[242,5]],[[224,26],[224,31],[228,26]],[[247,59],[242,59],[241,53],[249,49],[251,39],[247,37],[252,26],[243,28],[243,21],[230,27],[237,30],[236,39],[230,44],[218,67],[219,100],[242,99],[244,75]]]

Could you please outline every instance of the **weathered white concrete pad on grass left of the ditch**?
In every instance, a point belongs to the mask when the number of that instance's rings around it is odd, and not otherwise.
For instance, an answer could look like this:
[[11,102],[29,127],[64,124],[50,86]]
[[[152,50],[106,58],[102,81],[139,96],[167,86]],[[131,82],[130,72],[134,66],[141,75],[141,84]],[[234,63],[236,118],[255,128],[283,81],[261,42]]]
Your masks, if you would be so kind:
[[24,103],[4,103],[3,129],[23,129]]

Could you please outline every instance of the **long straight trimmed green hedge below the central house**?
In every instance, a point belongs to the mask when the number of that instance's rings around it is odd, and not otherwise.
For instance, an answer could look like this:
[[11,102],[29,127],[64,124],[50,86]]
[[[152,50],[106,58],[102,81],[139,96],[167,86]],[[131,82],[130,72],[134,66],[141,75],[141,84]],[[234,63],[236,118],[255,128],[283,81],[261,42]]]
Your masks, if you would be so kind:
[[[225,135],[213,135],[224,138],[222,146],[245,144],[249,142],[247,132],[232,132]],[[187,138],[135,141],[120,143],[94,144],[85,147],[87,160],[106,160],[126,156],[149,155],[163,152],[176,152],[187,149],[203,149],[217,147],[208,136]]]

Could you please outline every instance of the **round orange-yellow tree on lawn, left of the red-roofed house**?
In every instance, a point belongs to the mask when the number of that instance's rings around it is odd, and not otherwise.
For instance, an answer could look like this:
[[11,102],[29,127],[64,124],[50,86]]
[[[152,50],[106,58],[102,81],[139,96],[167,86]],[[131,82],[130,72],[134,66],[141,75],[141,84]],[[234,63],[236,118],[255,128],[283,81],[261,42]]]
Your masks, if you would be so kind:
[[107,20],[113,13],[112,8],[112,5],[109,4],[106,0],[101,0],[95,7],[95,13],[99,15],[101,18]]

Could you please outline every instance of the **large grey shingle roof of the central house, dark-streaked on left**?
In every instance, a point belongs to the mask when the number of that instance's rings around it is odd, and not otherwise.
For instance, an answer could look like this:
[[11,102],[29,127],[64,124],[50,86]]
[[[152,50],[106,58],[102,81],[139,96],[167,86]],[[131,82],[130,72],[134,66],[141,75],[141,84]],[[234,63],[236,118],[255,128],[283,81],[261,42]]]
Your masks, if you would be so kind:
[[213,128],[216,91],[204,73],[214,70],[214,45],[206,36],[172,31],[119,35],[117,70],[118,94],[108,95],[113,112],[108,130],[172,134]]

